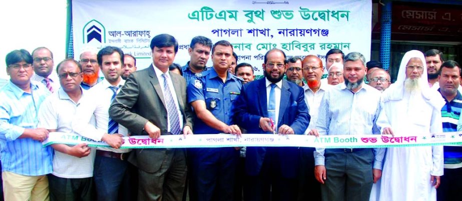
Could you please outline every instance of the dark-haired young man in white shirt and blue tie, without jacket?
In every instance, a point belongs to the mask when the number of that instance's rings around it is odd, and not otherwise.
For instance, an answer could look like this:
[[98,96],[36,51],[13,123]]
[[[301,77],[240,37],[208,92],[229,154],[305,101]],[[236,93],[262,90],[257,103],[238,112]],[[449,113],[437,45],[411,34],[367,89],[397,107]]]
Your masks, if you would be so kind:
[[[72,129],[84,137],[102,140],[111,146],[97,147],[94,181],[98,200],[117,200],[119,192],[122,196],[130,193],[129,188],[120,188],[128,165],[126,155],[130,149],[119,148],[123,143],[122,136],[127,136],[128,130],[109,116],[109,105],[125,83],[120,77],[124,52],[119,47],[106,46],[98,52],[97,60],[104,79],[82,97],[72,121]],[[90,123],[93,116],[96,127]]]

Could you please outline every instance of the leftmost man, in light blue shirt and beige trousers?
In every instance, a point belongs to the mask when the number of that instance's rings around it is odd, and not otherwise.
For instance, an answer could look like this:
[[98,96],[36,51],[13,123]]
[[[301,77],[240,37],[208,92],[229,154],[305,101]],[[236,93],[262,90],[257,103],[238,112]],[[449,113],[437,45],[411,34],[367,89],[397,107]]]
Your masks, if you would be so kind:
[[53,171],[53,148],[42,146],[48,130],[38,127],[37,112],[50,95],[31,82],[33,57],[25,49],[7,54],[10,81],[0,89],[0,152],[5,200],[47,200],[47,174]]

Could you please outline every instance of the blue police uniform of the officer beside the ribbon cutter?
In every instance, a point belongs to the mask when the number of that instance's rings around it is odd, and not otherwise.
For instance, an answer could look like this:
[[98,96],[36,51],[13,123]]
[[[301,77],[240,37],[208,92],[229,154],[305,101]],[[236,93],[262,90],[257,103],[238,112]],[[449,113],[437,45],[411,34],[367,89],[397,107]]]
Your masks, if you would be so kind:
[[[218,119],[232,125],[233,102],[240,94],[242,78],[227,72],[225,82],[215,68],[196,74],[188,84],[188,102],[205,101],[207,109]],[[194,134],[215,134],[217,130],[196,118]],[[234,174],[239,151],[234,147],[196,148],[192,157],[191,179],[197,200],[233,200]]]

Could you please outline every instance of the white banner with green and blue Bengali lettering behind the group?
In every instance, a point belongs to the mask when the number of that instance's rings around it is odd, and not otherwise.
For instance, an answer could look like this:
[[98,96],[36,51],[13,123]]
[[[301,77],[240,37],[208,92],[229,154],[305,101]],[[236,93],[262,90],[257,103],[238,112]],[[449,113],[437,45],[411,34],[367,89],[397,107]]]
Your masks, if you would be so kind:
[[273,47],[323,62],[331,48],[359,51],[368,60],[371,8],[370,0],[72,0],[74,51],[78,59],[86,45],[119,46],[143,69],[152,63],[152,37],[168,33],[179,42],[174,62],[180,65],[189,61],[197,35],[230,41],[238,63],[252,64],[257,75]]

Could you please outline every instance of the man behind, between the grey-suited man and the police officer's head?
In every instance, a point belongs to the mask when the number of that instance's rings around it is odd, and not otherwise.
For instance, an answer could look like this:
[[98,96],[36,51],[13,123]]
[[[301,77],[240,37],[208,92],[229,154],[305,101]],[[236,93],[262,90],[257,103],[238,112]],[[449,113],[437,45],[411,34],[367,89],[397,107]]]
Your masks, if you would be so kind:
[[211,48],[212,40],[209,38],[201,35],[193,37],[188,49],[191,59],[181,68],[183,77],[186,80],[186,85],[189,84],[189,81],[196,73],[207,70],[205,65],[209,60]]

